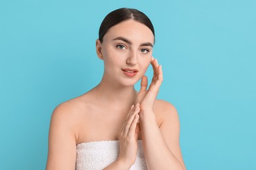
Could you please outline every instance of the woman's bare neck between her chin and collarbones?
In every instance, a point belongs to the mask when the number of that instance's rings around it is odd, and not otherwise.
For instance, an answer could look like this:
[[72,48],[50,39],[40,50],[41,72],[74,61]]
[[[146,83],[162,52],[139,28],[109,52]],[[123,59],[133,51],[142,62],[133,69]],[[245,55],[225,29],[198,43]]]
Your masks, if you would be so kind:
[[136,105],[137,92],[134,86],[123,86],[104,76],[93,91],[99,103],[110,106],[114,110],[127,110],[131,105]]

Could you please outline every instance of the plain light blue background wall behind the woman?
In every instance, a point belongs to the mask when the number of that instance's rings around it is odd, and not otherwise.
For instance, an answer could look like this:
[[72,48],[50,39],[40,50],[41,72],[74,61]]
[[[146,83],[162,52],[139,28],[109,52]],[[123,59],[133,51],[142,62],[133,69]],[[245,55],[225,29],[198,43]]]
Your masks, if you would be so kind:
[[154,24],[187,169],[256,169],[254,0],[1,0],[0,169],[45,169],[51,113],[100,82],[98,27],[120,7]]

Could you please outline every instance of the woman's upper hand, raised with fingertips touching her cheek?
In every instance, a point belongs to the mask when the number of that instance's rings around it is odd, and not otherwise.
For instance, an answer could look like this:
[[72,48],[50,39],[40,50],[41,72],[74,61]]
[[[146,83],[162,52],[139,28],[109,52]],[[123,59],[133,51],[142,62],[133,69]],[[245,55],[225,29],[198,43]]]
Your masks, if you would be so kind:
[[153,112],[153,106],[163,81],[163,71],[161,65],[158,64],[158,60],[152,57],[150,63],[154,70],[154,76],[148,90],[148,78],[146,76],[141,78],[140,92],[137,95],[137,102],[140,103],[140,113]]

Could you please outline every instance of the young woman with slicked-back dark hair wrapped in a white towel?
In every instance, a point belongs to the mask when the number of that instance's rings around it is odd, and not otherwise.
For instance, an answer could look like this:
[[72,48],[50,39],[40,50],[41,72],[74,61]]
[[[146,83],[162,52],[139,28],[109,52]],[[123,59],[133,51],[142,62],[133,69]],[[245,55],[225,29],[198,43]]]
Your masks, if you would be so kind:
[[163,74],[153,46],[154,27],[139,10],[117,9],[104,18],[96,40],[104,75],[98,86],[54,109],[47,170],[186,169],[177,110],[156,99]]

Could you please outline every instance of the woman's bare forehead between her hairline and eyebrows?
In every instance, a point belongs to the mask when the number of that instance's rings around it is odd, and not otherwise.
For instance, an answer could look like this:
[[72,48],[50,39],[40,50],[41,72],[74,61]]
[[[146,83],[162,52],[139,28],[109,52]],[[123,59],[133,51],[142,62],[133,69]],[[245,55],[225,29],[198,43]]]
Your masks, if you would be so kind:
[[120,22],[111,27],[104,36],[104,41],[111,41],[116,37],[125,37],[132,42],[152,42],[154,44],[152,31],[146,25],[135,20]]

